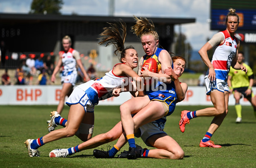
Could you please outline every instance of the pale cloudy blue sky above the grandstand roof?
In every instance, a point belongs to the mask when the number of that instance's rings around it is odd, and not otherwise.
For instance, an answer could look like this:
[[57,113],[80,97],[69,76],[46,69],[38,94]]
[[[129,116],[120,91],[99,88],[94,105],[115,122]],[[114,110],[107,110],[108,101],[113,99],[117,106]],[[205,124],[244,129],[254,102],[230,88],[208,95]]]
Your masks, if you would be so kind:
[[[62,14],[108,15],[109,0],[63,0]],[[22,13],[30,10],[32,0],[0,0],[0,13]],[[196,23],[183,24],[181,29],[194,50],[199,50],[210,31],[210,0],[115,0],[114,16],[195,18]],[[178,27],[175,26],[178,32]]]

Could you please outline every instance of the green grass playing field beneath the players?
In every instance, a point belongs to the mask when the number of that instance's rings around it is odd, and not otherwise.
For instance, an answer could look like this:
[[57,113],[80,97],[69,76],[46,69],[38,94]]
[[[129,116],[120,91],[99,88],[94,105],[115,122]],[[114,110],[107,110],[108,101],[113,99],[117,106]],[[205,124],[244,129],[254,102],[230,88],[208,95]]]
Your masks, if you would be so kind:
[[[256,167],[256,118],[250,106],[243,107],[241,124],[235,123],[234,106],[229,107],[229,114],[211,139],[215,144],[222,145],[222,148],[200,148],[199,142],[212,117],[191,120],[190,124],[186,125],[185,132],[181,133],[178,127],[180,111],[198,110],[204,106],[177,105],[175,112],[167,118],[165,131],[183,148],[185,157],[182,160],[96,159],[93,157],[93,149],[67,158],[49,157],[52,149],[70,148],[80,144],[81,141],[76,136],[48,143],[39,148],[41,157],[29,157],[23,142],[48,133],[46,120],[50,118],[49,111],[55,108],[56,106],[0,106],[0,167]],[[67,118],[68,110],[69,107],[65,106],[63,117]],[[119,119],[118,106],[96,106],[93,134],[107,132]],[[138,145],[146,148],[141,139],[135,140]],[[108,145],[112,147],[115,142],[97,149],[106,150]],[[128,145],[125,145],[121,151],[127,149]]]

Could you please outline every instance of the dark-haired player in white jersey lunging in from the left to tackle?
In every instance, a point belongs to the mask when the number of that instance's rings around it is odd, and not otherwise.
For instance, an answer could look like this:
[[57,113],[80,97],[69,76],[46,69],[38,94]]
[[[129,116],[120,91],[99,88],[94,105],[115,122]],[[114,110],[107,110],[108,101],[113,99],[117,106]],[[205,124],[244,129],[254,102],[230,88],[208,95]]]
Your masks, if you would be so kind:
[[[84,84],[78,85],[69,98],[66,104],[70,106],[68,121],[61,118],[56,112],[52,112],[51,123],[48,130],[51,131],[45,136],[37,139],[27,139],[26,148],[29,156],[39,156],[38,148],[46,143],[77,135],[81,140],[87,141],[92,137],[94,127],[94,107],[100,100],[109,98],[112,95],[113,89],[124,86],[125,80],[128,77],[137,80],[137,87],[143,86],[143,80],[134,72],[134,68],[138,66],[138,53],[132,46],[124,47],[126,37],[126,25],[124,22],[116,24],[110,23],[110,28],[105,28],[102,32],[102,39],[99,44],[115,44],[116,52],[121,53],[121,63],[116,64],[113,69],[105,74],[100,80],[90,80]],[[108,31],[111,29],[110,31]],[[123,31],[122,35],[119,29]],[[138,96],[144,96],[143,90],[139,91]],[[54,130],[58,125],[66,127]],[[78,151],[78,146],[72,148],[72,151]]]

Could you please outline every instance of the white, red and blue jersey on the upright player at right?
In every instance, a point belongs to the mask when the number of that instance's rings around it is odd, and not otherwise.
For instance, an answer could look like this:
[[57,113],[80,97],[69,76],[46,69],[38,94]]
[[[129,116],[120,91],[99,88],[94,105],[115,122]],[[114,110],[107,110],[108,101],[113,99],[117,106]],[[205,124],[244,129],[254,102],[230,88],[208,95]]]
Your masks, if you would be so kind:
[[[212,65],[216,78],[227,81],[232,60],[236,55],[238,40],[236,37],[231,38],[227,30],[219,33],[224,35],[224,43],[213,47]],[[208,75],[208,72],[206,75]]]

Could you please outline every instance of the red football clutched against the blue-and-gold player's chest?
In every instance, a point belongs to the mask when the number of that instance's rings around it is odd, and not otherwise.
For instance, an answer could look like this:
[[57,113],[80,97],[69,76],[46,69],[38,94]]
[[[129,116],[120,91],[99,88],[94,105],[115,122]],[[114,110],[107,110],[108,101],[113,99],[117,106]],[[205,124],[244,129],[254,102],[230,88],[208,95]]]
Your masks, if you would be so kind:
[[[143,66],[145,69],[147,69],[150,72],[158,73],[158,66],[157,66],[157,61],[154,58],[148,58]],[[141,71],[144,71],[143,68]],[[144,84],[151,84],[151,78],[145,77],[144,78]]]

